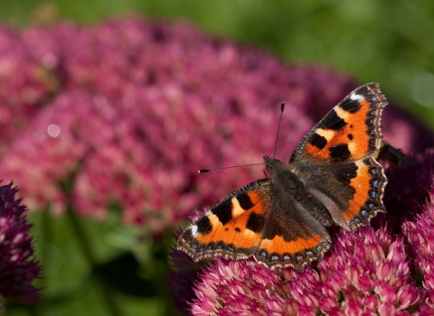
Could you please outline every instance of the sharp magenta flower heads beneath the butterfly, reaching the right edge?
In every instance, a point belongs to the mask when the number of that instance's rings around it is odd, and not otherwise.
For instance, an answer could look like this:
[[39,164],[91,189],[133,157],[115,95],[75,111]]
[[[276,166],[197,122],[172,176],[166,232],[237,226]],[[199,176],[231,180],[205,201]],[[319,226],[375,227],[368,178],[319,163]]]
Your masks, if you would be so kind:
[[302,273],[272,271],[252,258],[217,258],[198,273],[174,253],[176,276],[188,272],[194,292],[187,297],[173,284],[177,306],[197,315],[434,314],[434,150],[415,159],[386,168],[388,212],[373,227],[336,230],[325,259]]

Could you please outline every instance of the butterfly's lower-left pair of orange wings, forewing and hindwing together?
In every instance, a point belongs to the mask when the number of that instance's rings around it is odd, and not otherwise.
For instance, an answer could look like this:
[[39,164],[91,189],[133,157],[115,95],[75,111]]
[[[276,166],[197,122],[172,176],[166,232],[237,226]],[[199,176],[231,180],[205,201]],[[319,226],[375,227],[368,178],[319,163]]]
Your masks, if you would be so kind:
[[[194,261],[223,256],[303,268],[331,246],[325,228],[289,197],[277,206],[270,179],[250,183],[184,230],[177,242]],[[288,204],[289,203],[289,204]]]

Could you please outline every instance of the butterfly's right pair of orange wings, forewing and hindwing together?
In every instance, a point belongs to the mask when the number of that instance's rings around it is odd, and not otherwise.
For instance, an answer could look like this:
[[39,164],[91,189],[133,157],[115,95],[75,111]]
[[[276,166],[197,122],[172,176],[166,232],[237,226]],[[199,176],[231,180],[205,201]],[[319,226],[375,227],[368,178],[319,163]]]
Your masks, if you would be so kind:
[[290,159],[308,191],[345,229],[369,225],[384,211],[387,179],[373,154],[382,144],[386,105],[377,83],[356,88],[310,131]]

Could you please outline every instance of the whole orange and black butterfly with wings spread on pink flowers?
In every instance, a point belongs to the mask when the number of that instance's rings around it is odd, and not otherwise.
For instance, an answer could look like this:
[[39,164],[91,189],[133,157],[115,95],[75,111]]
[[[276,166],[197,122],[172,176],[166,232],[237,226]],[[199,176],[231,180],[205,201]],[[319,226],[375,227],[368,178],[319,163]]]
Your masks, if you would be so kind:
[[289,163],[264,156],[253,181],[185,228],[177,249],[195,262],[222,256],[303,270],[332,246],[327,228],[370,225],[387,184],[374,154],[382,144],[377,83],[354,89],[303,138]]

